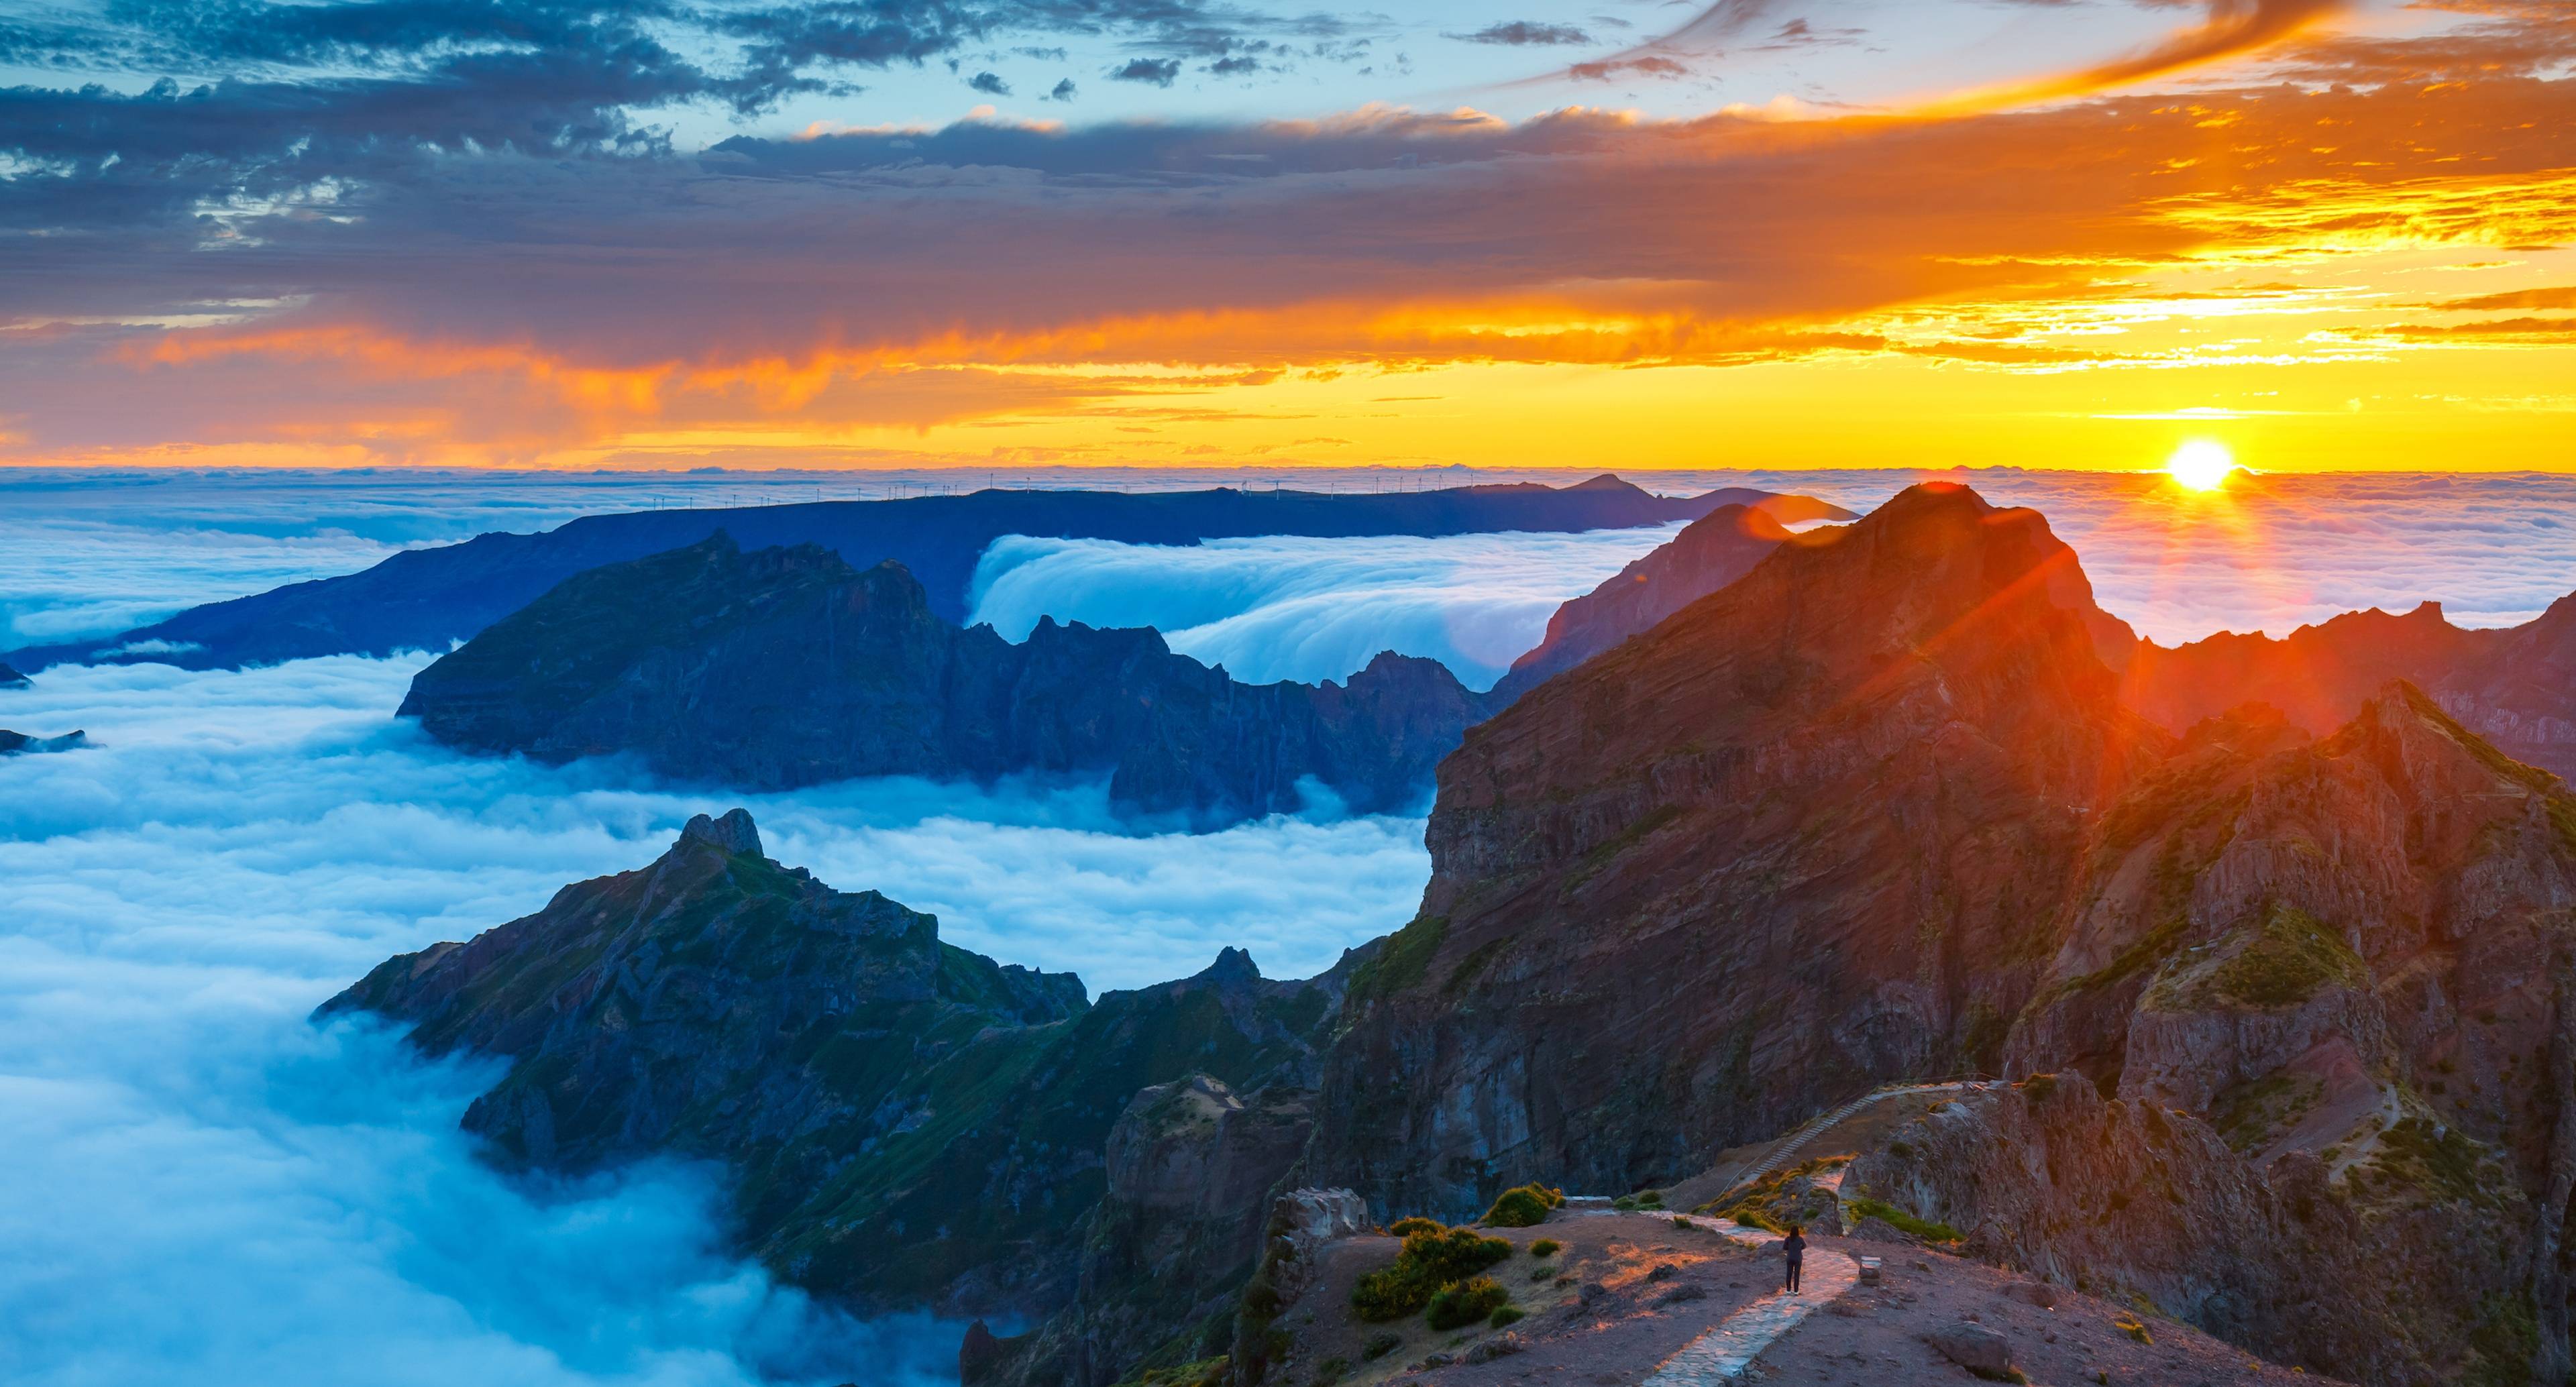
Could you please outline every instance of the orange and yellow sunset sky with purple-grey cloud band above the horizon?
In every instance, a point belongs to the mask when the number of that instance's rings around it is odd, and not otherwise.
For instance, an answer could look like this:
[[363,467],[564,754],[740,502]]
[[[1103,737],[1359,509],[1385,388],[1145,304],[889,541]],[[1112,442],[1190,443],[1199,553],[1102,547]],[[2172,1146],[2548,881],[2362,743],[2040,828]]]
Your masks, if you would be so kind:
[[[2576,466],[2576,15],[2272,10],[1862,113],[440,165],[139,250],[160,306],[21,314],[0,463]],[[1306,167],[1136,172],[1180,134]],[[250,291],[191,278],[227,255]]]

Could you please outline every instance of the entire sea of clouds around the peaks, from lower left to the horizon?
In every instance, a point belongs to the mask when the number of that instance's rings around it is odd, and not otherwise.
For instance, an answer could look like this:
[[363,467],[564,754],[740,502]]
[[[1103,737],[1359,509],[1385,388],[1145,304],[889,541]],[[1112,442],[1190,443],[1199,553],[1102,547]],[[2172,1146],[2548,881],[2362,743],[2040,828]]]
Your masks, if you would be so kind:
[[[966,481],[0,473],[0,641],[106,636],[590,510]],[[1747,481],[1868,510],[1914,476],[1656,479]],[[2102,602],[2166,641],[2421,597],[2494,625],[2576,587],[2561,479],[2241,479],[2215,499],[2123,476],[1968,481],[2045,510]],[[976,600],[1007,633],[1038,615],[1162,625],[1244,679],[1340,677],[1396,648],[1486,684],[1558,600],[1667,533],[1015,538]],[[734,803],[773,857],[1095,993],[1193,973],[1224,944],[1270,975],[1316,973],[1401,924],[1427,875],[1419,818],[1329,805],[1182,836],[1121,823],[1079,785],[742,798],[618,764],[466,759],[392,718],[422,659],[49,669],[0,690],[0,726],[98,741],[0,759],[0,1382],[938,1379],[958,1325],[855,1323],[775,1287],[726,1256],[708,1171],[502,1179],[456,1130],[487,1065],[425,1065],[379,1027],[309,1011],[386,955],[644,865],[685,816]]]

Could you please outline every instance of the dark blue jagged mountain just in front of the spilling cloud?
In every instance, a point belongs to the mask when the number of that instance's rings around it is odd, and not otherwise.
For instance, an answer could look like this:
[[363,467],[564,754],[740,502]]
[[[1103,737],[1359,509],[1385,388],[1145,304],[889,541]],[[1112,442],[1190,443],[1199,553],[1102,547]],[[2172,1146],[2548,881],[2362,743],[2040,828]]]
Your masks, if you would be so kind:
[[1041,620],[1012,646],[940,620],[902,566],[724,535],[580,574],[412,679],[451,746],[546,762],[631,754],[696,782],[1108,775],[1110,800],[1198,826],[1419,803],[1486,700],[1381,654],[1347,684],[1239,684],[1154,630]]

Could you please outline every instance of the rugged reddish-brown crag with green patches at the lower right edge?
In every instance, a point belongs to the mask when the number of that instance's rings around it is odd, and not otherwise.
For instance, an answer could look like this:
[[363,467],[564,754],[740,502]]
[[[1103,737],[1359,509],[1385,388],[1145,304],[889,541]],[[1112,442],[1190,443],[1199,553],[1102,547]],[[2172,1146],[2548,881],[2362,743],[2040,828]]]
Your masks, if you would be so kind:
[[[2419,690],[2324,741],[2277,715],[2208,723],[2105,816],[2007,1055],[2192,1114],[2197,1166],[2236,1194],[2105,1230],[2074,1204],[2130,1173],[2058,1150],[2133,1143],[2056,1127],[2032,1148],[2048,1179],[2002,1202],[1909,1179],[2004,1215],[2014,1256],[2287,1361],[2447,1382],[2465,1348],[2486,1361],[2470,1379],[2563,1374],[2571,942],[2576,798]],[[2112,1122],[2133,1137],[2141,1117]],[[2014,1202],[2043,1215],[2017,1222]],[[2331,1217],[2282,1212],[2316,1207]]]

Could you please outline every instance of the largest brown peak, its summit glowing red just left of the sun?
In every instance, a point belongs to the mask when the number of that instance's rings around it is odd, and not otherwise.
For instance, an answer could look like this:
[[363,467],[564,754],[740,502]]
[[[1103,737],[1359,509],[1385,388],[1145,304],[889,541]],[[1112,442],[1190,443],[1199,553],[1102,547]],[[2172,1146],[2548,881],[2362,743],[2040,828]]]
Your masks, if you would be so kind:
[[2097,615],[2035,512],[1917,486],[1471,731],[1303,1173],[1463,1217],[1994,1063],[2089,816],[2161,741]]

